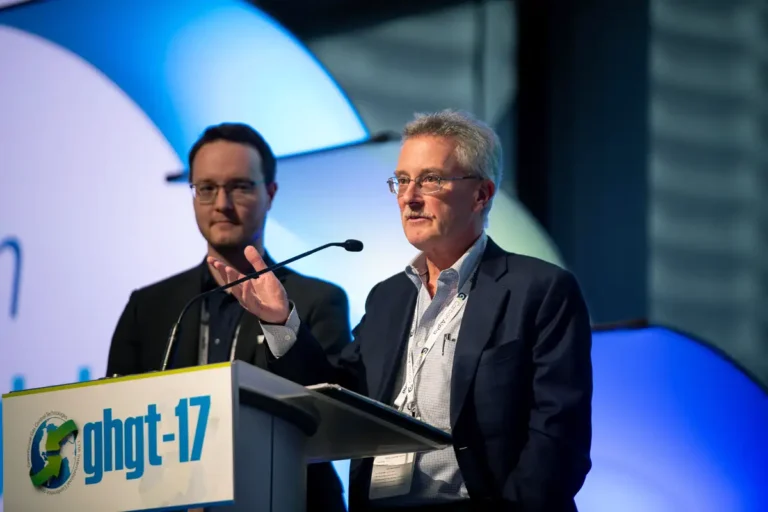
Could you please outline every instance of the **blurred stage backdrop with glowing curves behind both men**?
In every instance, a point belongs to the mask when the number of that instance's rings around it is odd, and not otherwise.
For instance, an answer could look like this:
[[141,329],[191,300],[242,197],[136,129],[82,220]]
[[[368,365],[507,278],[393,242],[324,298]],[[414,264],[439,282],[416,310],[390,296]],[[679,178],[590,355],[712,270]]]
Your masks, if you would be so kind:
[[293,266],[354,325],[413,255],[397,132],[442,108],[501,137],[491,236],[586,295],[581,509],[765,510],[762,0],[0,1],[0,391],[101,377],[130,292],[199,263],[184,162],[222,121],[279,157],[275,259],[366,244]]

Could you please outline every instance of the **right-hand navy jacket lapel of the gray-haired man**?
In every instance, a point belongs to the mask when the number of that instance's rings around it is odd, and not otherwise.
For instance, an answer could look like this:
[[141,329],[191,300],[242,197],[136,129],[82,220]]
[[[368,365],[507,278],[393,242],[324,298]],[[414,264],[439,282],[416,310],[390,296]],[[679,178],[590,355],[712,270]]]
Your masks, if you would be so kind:
[[467,299],[459,329],[451,374],[451,425],[456,421],[467,399],[467,393],[480,361],[480,355],[493,335],[509,290],[497,281],[507,271],[506,253],[490,238],[477,278]]

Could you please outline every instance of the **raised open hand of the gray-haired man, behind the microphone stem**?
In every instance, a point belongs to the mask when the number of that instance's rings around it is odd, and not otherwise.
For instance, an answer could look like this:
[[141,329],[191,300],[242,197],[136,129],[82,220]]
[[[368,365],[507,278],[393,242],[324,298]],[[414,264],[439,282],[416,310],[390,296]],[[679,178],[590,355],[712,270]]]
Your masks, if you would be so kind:
[[[244,254],[255,270],[267,268],[267,264],[264,263],[254,247],[246,247]],[[234,268],[210,256],[208,263],[219,273],[225,284],[244,277]],[[241,306],[263,322],[284,324],[288,320],[288,314],[291,312],[288,294],[285,293],[282,283],[272,272],[267,272],[258,279],[249,279],[244,283],[235,285],[230,288],[230,293],[240,302]]]

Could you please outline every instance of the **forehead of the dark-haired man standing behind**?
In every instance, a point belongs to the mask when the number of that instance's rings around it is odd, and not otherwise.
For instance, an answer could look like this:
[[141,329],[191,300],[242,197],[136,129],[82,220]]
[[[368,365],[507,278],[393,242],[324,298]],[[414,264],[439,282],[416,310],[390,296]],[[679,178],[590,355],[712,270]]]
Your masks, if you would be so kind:
[[225,140],[203,145],[192,161],[195,180],[261,179],[261,156],[254,148]]

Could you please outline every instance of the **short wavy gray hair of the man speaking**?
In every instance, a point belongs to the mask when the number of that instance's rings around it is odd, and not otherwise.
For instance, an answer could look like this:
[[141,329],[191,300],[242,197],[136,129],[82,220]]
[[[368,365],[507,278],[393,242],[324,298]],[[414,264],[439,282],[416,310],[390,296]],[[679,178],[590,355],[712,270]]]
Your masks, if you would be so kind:
[[[417,113],[403,128],[403,141],[418,136],[449,137],[456,141],[456,160],[466,170],[491,180],[498,191],[501,186],[501,141],[486,123],[459,110]],[[488,216],[493,198],[484,215]]]

